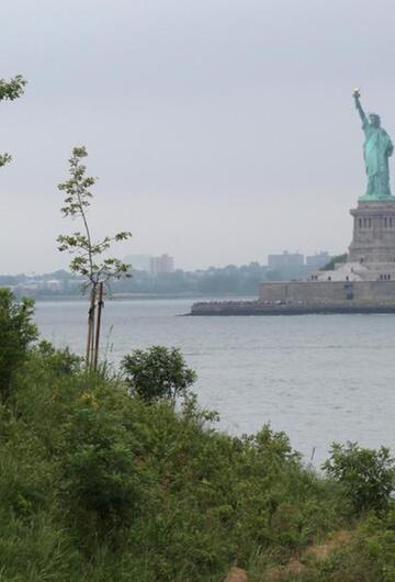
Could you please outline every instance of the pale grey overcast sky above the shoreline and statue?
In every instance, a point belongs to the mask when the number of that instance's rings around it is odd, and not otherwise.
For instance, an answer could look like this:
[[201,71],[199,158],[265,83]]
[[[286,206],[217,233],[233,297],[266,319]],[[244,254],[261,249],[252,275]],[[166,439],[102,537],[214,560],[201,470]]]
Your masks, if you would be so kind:
[[93,228],[133,232],[121,256],[346,250],[365,188],[351,92],[395,139],[394,18],[393,0],[2,2],[0,76],[29,87],[0,105],[0,272],[68,265],[56,184],[79,144]]

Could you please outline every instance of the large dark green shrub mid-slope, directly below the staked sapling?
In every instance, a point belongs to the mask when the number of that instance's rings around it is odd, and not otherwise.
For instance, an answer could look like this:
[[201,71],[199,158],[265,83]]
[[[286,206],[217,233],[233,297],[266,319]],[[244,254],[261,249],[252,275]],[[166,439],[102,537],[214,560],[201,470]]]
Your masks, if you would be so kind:
[[100,385],[80,393],[70,406],[58,451],[59,494],[71,521],[82,531],[89,526],[104,537],[131,525],[145,482],[134,435],[123,424],[126,411],[112,407],[111,398]]

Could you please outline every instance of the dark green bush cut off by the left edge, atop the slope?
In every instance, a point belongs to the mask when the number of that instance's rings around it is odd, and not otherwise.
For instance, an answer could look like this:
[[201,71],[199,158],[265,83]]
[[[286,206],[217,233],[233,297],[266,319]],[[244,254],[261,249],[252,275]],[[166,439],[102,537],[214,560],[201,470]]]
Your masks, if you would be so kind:
[[32,322],[33,301],[18,301],[9,289],[0,289],[0,400],[5,403],[15,372],[27,357],[37,328]]

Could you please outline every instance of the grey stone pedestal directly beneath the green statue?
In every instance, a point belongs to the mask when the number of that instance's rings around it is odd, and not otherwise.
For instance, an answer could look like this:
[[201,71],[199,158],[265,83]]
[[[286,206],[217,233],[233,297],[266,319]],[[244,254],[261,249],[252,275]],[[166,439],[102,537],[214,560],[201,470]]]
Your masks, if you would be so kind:
[[353,237],[349,262],[394,264],[395,197],[393,200],[360,201],[350,214],[353,216]]

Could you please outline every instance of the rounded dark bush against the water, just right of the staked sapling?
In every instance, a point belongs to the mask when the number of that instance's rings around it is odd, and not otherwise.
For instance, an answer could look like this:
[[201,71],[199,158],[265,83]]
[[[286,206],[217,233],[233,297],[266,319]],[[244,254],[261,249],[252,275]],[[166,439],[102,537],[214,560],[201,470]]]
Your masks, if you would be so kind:
[[185,395],[196,379],[181,351],[165,346],[135,349],[124,357],[122,368],[131,392],[147,402],[166,399],[174,404],[177,396]]

